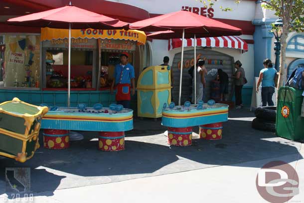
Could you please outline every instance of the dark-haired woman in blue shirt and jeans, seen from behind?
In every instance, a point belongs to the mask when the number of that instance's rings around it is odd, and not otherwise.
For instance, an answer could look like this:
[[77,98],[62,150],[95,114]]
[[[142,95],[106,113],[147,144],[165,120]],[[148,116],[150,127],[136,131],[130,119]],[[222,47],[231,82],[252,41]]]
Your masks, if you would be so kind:
[[270,59],[263,61],[264,69],[260,71],[260,77],[257,85],[257,92],[262,82],[262,106],[274,106],[272,96],[275,93],[275,75],[277,70],[273,68],[273,64]]

